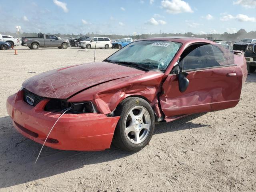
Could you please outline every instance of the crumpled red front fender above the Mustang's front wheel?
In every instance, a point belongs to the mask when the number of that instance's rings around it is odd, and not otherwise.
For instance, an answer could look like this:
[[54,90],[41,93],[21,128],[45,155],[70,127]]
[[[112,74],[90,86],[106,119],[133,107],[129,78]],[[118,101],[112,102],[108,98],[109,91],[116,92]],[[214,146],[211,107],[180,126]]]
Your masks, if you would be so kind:
[[154,71],[136,76],[116,79],[96,85],[70,98],[68,102],[93,101],[100,113],[109,114],[116,106],[129,96],[139,96],[154,108],[161,116],[157,94],[164,74]]

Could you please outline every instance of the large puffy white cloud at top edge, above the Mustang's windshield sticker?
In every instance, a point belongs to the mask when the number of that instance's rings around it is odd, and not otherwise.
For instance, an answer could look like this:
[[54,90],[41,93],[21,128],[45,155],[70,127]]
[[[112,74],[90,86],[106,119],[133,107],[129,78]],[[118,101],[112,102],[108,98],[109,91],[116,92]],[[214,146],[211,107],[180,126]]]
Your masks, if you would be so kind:
[[166,9],[167,13],[177,14],[188,12],[192,13],[193,10],[191,9],[190,5],[182,0],[163,0],[161,2],[162,8]]

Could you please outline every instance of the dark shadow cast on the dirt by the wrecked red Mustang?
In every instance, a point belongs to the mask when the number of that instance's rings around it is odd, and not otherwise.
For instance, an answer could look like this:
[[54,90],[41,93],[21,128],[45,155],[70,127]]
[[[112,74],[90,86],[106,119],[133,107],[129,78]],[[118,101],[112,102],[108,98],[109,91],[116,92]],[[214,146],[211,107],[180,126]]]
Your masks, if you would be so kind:
[[[156,124],[154,134],[207,126],[189,122],[202,115],[194,114],[170,123]],[[0,188],[132,155],[132,153],[122,151],[114,146],[99,152],[62,151],[44,147],[38,162],[34,164],[42,145],[16,132],[10,117],[0,118],[0,128],[0,180],[2,182]]]

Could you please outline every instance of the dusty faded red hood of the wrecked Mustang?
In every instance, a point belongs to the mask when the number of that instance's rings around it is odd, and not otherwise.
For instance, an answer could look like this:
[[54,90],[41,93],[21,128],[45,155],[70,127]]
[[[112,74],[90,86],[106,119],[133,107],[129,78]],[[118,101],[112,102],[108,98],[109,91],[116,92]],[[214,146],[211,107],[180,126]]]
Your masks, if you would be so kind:
[[38,74],[24,81],[22,86],[42,97],[66,99],[101,83],[144,73],[108,62],[92,62]]

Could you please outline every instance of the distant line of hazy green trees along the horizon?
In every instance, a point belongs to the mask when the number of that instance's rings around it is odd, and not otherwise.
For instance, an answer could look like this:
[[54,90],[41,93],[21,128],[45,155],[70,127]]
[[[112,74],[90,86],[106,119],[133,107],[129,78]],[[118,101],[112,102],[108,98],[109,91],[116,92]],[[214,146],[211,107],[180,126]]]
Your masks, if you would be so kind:
[[[0,32],[0,34],[12,35],[12,36],[18,37],[18,35],[16,33],[12,33],[12,32]],[[182,33],[161,33],[161,34],[140,34],[140,35],[136,35],[136,36],[116,35],[116,34],[112,34],[112,35],[94,34],[93,32],[87,33],[87,34],[82,34],[82,33],[80,33],[80,34],[60,34],[60,33],[58,33],[58,34],[54,34],[54,35],[56,35],[60,38],[63,38],[63,37],[75,38],[77,36],[98,36],[98,37],[104,36],[104,37],[109,37],[111,40],[121,39],[121,38],[126,38],[126,37],[130,37],[133,39],[142,39],[142,38],[149,38],[149,37],[166,37],[166,36],[188,36],[188,37],[194,36],[194,37],[198,37],[198,38],[212,37],[217,40],[239,41],[244,38],[256,38],[256,31],[246,32],[246,30],[240,29],[236,33],[224,32],[223,34],[193,34],[192,32],[186,32],[184,34],[182,34]],[[23,36],[37,37],[38,33],[23,32],[20,34],[20,37],[23,37]]]

